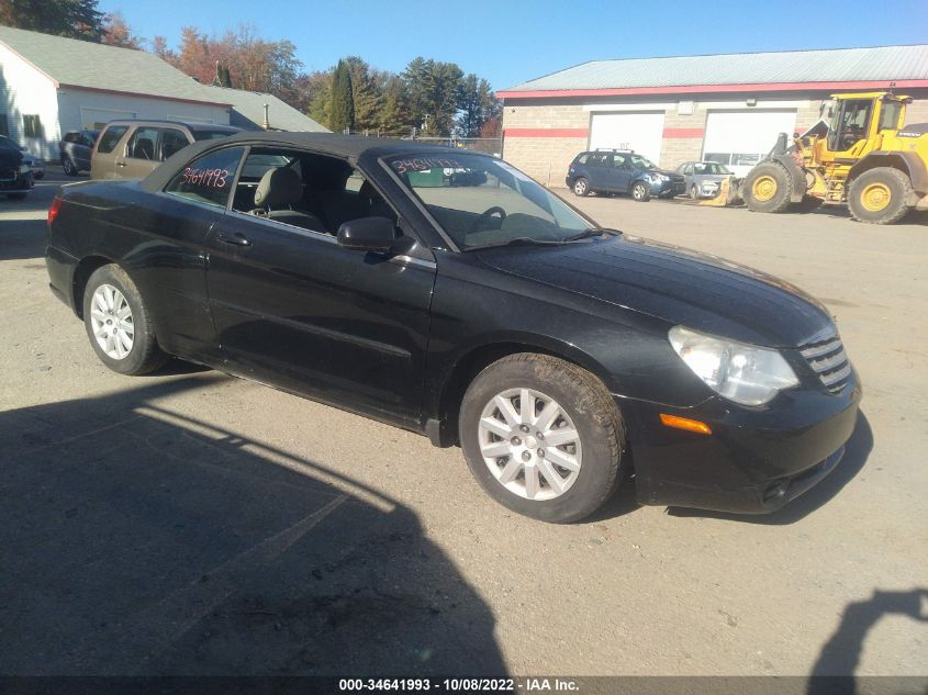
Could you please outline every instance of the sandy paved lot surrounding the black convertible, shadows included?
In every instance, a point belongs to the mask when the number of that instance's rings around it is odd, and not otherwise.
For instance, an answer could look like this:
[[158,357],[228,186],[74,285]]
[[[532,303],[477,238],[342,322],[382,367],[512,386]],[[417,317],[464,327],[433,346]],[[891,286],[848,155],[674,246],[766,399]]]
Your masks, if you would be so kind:
[[928,672],[924,222],[579,201],[824,299],[864,415],[774,516],[625,490],[558,527],[424,438],[182,365],[109,372],[46,289],[55,184],[0,201],[0,673]]

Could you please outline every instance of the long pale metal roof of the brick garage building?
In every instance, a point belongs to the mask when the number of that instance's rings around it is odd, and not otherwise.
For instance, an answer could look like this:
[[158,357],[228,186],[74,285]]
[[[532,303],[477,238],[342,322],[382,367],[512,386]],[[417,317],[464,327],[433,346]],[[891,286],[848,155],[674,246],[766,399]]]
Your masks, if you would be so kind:
[[[500,92],[928,80],[928,45],[591,60]],[[517,96],[517,94],[513,94]]]

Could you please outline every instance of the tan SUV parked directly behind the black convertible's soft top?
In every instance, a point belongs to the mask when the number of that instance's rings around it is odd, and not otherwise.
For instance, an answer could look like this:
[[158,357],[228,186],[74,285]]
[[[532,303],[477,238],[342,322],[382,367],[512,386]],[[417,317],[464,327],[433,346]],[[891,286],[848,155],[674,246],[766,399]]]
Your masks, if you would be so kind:
[[227,137],[242,128],[180,121],[110,121],[90,155],[91,179],[141,179],[190,143]]

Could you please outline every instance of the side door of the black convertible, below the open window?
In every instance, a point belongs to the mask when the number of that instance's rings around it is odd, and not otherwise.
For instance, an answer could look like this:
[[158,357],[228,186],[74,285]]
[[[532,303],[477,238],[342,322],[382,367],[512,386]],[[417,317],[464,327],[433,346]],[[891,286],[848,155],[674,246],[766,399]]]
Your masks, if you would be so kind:
[[[253,150],[243,171],[254,171],[254,160],[279,155]],[[350,170],[344,161],[326,159],[314,156],[312,166],[337,162]],[[304,184],[326,178],[302,164]],[[326,184],[306,191],[306,201],[323,203],[313,212],[327,218],[328,233],[249,214],[246,199],[255,181],[238,181],[246,192],[236,195],[239,209],[226,212],[206,244],[210,306],[223,357],[234,373],[414,425],[422,407],[435,264],[339,246],[332,233],[351,216],[351,195],[357,198],[346,181],[347,173],[340,190]],[[301,208],[293,204],[291,212]]]

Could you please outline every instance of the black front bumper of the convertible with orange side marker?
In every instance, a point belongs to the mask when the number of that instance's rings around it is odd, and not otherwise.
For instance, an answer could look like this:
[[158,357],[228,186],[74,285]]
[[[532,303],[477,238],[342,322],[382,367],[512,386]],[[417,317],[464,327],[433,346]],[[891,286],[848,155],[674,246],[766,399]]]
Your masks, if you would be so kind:
[[[838,466],[860,399],[857,374],[838,395],[786,391],[764,408],[717,396],[690,408],[617,397],[638,501],[742,514],[779,509]],[[671,429],[661,413],[706,423],[712,434]]]

